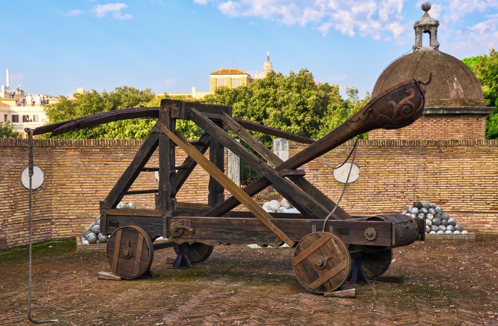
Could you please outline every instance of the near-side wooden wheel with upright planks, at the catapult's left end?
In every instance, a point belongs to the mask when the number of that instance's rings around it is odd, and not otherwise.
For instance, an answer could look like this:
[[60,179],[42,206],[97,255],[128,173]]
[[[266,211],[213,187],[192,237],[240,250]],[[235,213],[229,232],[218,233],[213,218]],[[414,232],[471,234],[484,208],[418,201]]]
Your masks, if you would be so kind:
[[147,272],[153,259],[152,241],[138,226],[126,225],[117,228],[107,242],[107,260],[113,272],[126,280]]

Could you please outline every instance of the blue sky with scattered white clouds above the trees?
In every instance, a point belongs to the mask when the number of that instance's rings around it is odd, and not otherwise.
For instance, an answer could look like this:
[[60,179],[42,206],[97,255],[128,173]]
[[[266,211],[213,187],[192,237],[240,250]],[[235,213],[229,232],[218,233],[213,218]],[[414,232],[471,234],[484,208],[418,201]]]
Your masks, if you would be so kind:
[[[371,91],[409,51],[424,1],[101,0],[2,3],[1,71],[30,93],[77,87],[209,91],[209,74],[236,67],[307,68],[318,82]],[[432,1],[440,50],[459,59],[498,44],[498,0]],[[4,76],[1,73],[0,76]],[[4,78],[0,84],[5,84]]]

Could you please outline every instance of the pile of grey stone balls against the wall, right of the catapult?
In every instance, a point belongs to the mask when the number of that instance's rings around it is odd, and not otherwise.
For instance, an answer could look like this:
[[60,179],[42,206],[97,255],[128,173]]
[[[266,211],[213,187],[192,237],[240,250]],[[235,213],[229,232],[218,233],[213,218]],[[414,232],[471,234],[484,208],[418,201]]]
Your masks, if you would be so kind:
[[457,224],[455,218],[450,218],[448,213],[434,203],[414,202],[402,214],[413,218],[425,218],[425,233],[453,233],[466,234],[463,226]]

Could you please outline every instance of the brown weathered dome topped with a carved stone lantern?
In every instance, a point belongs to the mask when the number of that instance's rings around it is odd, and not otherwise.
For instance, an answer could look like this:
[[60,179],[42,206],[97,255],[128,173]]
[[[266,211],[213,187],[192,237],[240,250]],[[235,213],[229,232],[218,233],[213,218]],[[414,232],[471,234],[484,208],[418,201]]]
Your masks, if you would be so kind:
[[[382,91],[410,79],[432,81],[427,86],[426,107],[481,107],[486,105],[481,85],[474,73],[457,58],[439,51],[437,26],[439,22],[429,16],[430,3],[422,5],[424,15],[414,25],[413,53],[390,64],[379,76],[373,97]],[[430,46],[422,47],[422,33],[428,33]]]

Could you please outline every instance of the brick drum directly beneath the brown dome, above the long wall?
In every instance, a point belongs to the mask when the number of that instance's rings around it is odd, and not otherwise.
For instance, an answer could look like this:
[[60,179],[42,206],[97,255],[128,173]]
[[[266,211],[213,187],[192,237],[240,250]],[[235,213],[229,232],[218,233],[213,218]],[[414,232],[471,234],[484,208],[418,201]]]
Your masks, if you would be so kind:
[[[420,139],[422,118],[412,125],[394,130],[376,129],[369,132],[369,139]],[[486,116],[477,114],[466,115],[435,115],[424,117],[423,139],[485,139]]]

